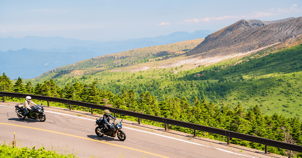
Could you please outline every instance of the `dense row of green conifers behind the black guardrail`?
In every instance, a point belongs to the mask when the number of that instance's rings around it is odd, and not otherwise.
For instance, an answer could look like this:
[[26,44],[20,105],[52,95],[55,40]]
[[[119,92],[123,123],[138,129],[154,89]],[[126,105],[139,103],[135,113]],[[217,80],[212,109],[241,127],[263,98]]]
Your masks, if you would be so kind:
[[[155,115],[164,118],[201,124],[209,127],[235,131],[243,134],[249,134],[278,141],[291,140],[296,144],[302,145],[302,126],[300,118],[285,118],[282,115],[274,114],[272,116],[263,116],[258,105],[245,111],[238,104],[234,109],[230,108],[230,104],[221,101],[221,106],[217,106],[213,102],[207,102],[205,98],[194,97],[191,105],[187,98],[168,98],[162,94],[162,100],[157,101],[156,97],[148,91],[141,92],[138,96],[129,89],[123,88],[120,94],[114,94],[109,90],[102,90],[96,87],[98,81],[91,84],[82,84],[75,82],[67,84],[64,88],[56,86],[53,79],[44,81],[43,84],[32,85],[31,82],[23,84],[19,77],[12,84],[11,80],[5,75],[0,76],[0,91],[27,93],[35,95],[44,95],[58,98],[72,99],[82,102],[88,102],[108,107],[119,108],[128,111],[135,111],[144,114]],[[206,89],[206,87],[204,87]],[[64,105],[69,106],[69,105]],[[84,107],[72,106],[74,109],[88,110]],[[101,113],[101,110],[95,112]],[[135,121],[137,118],[119,115],[119,118],[126,118]],[[142,120],[146,124],[152,124],[163,127],[164,124]],[[194,134],[194,130],[168,125],[168,129]],[[226,137],[210,134],[203,131],[197,131],[199,137],[207,137],[215,140],[226,141]],[[231,138],[231,143],[242,146],[264,150],[265,146],[258,143],[252,143],[244,140]],[[285,155],[288,151],[268,147],[268,152]],[[301,153],[298,156],[302,156]]]

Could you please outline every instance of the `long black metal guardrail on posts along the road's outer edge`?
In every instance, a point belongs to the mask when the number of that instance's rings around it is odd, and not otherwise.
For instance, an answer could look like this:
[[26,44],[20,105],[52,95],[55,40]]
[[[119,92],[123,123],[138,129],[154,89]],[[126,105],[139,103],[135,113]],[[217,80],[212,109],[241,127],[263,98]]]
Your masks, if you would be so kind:
[[242,133],[233,132],[233,131],[227,131],[227,130],[223,130],[223,129],[219,129],[219,128],[208,127],[208,126],[203,126],[203,125],[199,125],[199,124],[193,124],[193,123],[188,123],[188,122],[184,122],[184,121],[173,120],[173,119],[169,119],[169,118],[162,118],[162,117],[158,117],[158,116],[142,114],[142,113],[137,113],[137,112],[133,112],[133,111],[126,111],[126,110],[121,110],[121,109],[117,109],[117,108],[110,108],[110,107],[106,107],[106,106],[102,106],[102,105],[80,102],[80,101],[75,101],[75,100],[70,100],[70,99],[55,98],[55,97],[48,97],[48,96],[41,96],[41,95],[12,93],[12,92],[0,92],[0,96],[3,96],[3,102],[5,102],[4,96],[25,98],[28,95],[30,95],[31,98],[33,98],[33,99],[47,101],[48,106],[49,106],[49,102],[59,102],[59,103],[64,103],[64,104],[69,104],[69,105],[78,105],[78,106],[83,106],[83,107],[87,107],[87,108],[92,108],[92,114],[93,114],[93,109],[100,109],[100,110],[108,109],[111,112],[114,112],[117,114],[122,114],[122,115],[139,118],[139,124],[140,124],[140,119],[146,119],[146,120],[164,123],[165,129],[167,129],[166,124],[194,129],[195,136],[196,136],[196,130],[213,133],[213,134],[219,134],[219,135],[228,137],[227,144],[230,144],[230,137],[237,138],[240,140],[246,140],[246,141],[250,141],[250,142],[254,142],[254,143],[259,143],[259,144],[265,145],[265,153],[268,153],[267,146],[278,147],[278,148],[292,150],[292,151],[302,153],[301,145],[285,143],[285,142],[281,142],[281,141],[277,141],[277,140],[256,137],[256,136],[242,134]]

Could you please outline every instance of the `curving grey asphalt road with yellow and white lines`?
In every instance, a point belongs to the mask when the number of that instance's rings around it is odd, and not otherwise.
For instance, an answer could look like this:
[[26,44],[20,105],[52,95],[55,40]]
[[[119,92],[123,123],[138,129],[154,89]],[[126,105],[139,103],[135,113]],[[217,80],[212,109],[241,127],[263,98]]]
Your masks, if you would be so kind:
[[44,112],[46,121],[40,122],[28,118],[19,119],[14,112],[14,105],[0,103],[0,143],[11,142],[14,139],[13,133],[16,132],[17,146],[29,148],[36,146],[36,149],[45,147],[59,153],[73,153],[81,158],[92,156],[106,158],[283,157],[263,154],[263,151],[250,150],[250,148],[239,149],[236,145],[226,146],[224,142],[190,139],[186,135],[171,135],[172,132],[166,134],[162,131],[154,132],[150,127],[137,127],[130,121],[122,123],[123,131],[127,136],[125,141],[120,141],[117,137],[98,137],[95,134],[97,117],[87,117],[81,114],[82,111],[69,114],[70,112],[65,112],[66,110],[46,109]]

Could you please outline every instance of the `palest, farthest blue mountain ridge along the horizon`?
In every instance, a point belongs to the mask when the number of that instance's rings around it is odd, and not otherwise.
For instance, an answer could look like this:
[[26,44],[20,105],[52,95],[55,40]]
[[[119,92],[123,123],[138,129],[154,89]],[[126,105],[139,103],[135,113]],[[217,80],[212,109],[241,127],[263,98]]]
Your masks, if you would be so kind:
[[[215,31],[200,30],[193,33],[174,32],[166,36],[145,37],[140,39],[130,39],[125,41],[99,42],[92,40],[77,40],[64,37],[37,37],[26,36],[23,38],[0,38],[0,51],[20,50],[23,48],[41,51],[41,52],[80,52],[83,50],[100,51],[100,48],[110,48],[121,46],[117,50],[119,53],[130,49],[149,47],[162,44],[171,44],[175,42],[194,40],[204,38]],[[125,47],[124,49],[122,47]],[[96,49],[96,50],[95,50]],[[102,49],[101,49],[102,50]],[[108,51],[108,49],[105,49]],[[109,52],[108,52],[109,53]]]

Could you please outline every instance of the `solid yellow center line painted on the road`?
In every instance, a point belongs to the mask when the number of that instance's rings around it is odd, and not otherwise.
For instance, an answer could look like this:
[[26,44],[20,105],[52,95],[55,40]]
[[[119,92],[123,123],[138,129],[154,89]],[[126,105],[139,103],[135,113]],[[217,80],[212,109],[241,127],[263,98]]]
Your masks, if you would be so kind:
[[155,156],[159,156],[159,157],[169,158],[169,157],[161,156],[161,155],[158,155],[158,154],[155,154],[155,153],[149,153],[149,152],[143,151],[143,150],[138,150],[138,149],[134,149],[134,148],[130,148],[130,147],[125,147],[125,146],[121,146],[121,145],[117,145],[117,144],[113,144],[113,143],[103,142],[101,140],[95,140],[95,139],[91,139],[91,138],[85,138],[85,137],[75,136],[75,135],[61,133],[61,132],[56,132],[56,131],[49,131],[49,130],[44,130],[44,129],[40,129],[40,128],[21,126],[21,125],[17,125],[17,124],[6,124],[6,123],[1,123],[1,122],[0,122],[0,124],[17,126],[17,127],[24,127],[24,128],[31,128],[31,129],[35,129],[35,130],[52,132],[52,133],[56,133],[56,134],[63,134],[63,135],[66,135],[66,136],[71,136],[71,137],[76,137],[76,138],[81,138],[81,139],[86,139],[86,140],[92,140],[92,141],[95,141],[95,142],[100,142],[100,143],[104,143],[104,144],[108,144],[108,145],[113,145],[113,146],[116,146],[116,147],[122,147],[122,148],[130,149],[130,150],[135,150],[135,151],[140,151],[140,152],[143,152],[143,153],[147,153],[147,154],[151,154],[151,155],[155,155]]

